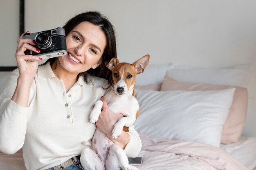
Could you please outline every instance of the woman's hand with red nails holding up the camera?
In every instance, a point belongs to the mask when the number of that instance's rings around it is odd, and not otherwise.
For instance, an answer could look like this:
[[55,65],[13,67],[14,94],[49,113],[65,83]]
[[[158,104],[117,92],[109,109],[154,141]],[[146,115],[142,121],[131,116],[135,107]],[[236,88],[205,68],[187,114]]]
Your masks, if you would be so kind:
[[34,47],[36,43],[32,39],[22,39],[23,35],[24,34],[22,34],[18,39],[18,46],[15,54],[18,70],[20,77],[25,76],[27,78],[34,79],[38,68],[38,61],[42,60],[42,58],[33,55],[25,55],[24,52],[26,50],[32,50],[37,53],[39,53],[40,50]]

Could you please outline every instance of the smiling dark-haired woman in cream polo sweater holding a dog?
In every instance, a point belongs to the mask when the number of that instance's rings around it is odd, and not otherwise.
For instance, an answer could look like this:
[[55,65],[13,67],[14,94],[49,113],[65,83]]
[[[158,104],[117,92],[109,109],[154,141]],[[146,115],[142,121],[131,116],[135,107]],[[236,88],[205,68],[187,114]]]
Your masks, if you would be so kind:
[[[28,170],[83,169],[70,162],[79,160],[83,148],[91,146],[96,126],[89,122],[90,111],[112,85],[104,62],[117,52],[108,19],[98,12],[86,12],[63,28],[68,54],[39,67],[41,58],[24,52],[40,50],[31,39],[20,36],[18,69],[0,96],[0,150],[13,154],[22,148]],[[138,133],[130,128],[129,133],[123,131],[112,139],[113,126],[122,115],[112,113],[102,100],[105,107],[96,125],[128,156],[137,156],[141,149]]]

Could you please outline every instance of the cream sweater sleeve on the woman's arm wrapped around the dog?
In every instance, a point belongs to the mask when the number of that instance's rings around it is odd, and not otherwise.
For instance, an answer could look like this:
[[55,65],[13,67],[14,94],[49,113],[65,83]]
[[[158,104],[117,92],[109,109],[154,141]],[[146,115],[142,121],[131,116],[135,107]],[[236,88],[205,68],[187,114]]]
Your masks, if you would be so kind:
[[129,127],[128,134],[130,135],[130,141],[124,151],[128,157],[137,157],[141,150],[141,139],[137,131],[135,131],[134,126]]

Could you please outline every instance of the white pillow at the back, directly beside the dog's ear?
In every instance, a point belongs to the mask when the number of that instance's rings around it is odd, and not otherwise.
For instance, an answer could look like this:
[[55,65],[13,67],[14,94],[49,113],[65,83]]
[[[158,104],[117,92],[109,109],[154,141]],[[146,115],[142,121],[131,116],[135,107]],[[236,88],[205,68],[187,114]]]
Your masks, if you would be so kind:
[[136,76],[136,85],[154,85],[158,83],[162,83],[164,80],[164,76],[166,74],[166,70],[170,68],[172,65],[169,64],[152,64],[148,65],[144,72],[138,74]]

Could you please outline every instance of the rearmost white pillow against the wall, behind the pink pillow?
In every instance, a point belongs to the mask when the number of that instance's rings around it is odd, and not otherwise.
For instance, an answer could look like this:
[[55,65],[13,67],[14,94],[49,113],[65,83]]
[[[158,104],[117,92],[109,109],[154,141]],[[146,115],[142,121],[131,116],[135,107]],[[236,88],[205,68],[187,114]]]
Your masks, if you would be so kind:
[[173,64],[166,76],[178,81],[234,85],[247,88],[251,76],[251,65],[236,65],[231,68],[197,68]]

